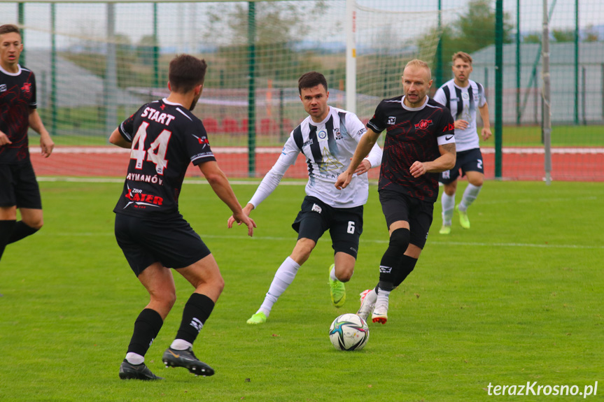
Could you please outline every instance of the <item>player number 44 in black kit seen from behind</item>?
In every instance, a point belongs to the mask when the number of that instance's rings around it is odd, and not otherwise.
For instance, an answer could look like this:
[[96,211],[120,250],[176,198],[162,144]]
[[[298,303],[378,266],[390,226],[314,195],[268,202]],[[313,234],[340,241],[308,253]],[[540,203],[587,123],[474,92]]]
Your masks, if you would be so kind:
[[202,239],[178,212],[178,194],[192,162],[199,166],[213,191],[252,236],[255,223],[241,210],[226,175],[218,167],[202,121],[191,113],[202,94],[206,62],[180,55],[170,62],[170,94],[147,103],[111,134],[109,141],[131,148],[128,173],[115,212],[115,238],[147,289],[150,301],[134,322],[134,333],[120,378],[160,380],[144,364],[144,356],[176,301],[169,268],[195,287],[185,304],[174,342],[164,352],[166,366],[213,375],[199,361],[192,343],[208,319],[224,280]]

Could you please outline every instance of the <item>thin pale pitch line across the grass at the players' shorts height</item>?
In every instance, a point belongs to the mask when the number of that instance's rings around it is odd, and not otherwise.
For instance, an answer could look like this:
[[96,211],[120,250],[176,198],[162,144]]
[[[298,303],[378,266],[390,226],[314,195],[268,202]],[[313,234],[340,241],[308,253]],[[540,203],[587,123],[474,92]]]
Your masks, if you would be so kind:
[[[64,236],[64,237],[82,237],[82,236],[115,236],[113,232],[62,232],[45,234],[39,233],[36,236]],[[199,234],[202,238],[219,238],[227,240],[240,240],[244,238],[244,234],[241,236],[220,236],[212,234]],[[291,237],[274,237],[274,236],[254,236],[249,239],[250,241],[293,241],[294,236]],[[388,239],[367,239],[361,238],[360,243],[388,243]],[[531,248],[570,248],[570,249],[581,249],[581,250],[604,250],[604,245],[580,245],[580,244],[535,244],[535,243],[482,243],[482,242],[464,242],[464,241],[430,241],[430,244],[436,245],[470,245],[472,247],[531,247]]]

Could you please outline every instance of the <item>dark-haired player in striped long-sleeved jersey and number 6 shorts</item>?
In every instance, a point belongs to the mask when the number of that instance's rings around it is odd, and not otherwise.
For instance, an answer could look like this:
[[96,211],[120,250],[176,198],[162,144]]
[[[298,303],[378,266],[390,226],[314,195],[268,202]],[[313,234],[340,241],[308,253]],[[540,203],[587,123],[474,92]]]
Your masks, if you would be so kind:
[[[350,280],[354,271],[358,241],[363,232],[363,205],[369,195],[367,175],[363,173],[381,161],[381,149],[374,145],[367,150],[367,159],[359,161],[353,171],[351,188],[345,192],[335,189],[337,175],[349,166],[366,129],[354,113],[328,106],[329,92],[323,74],[316,71],[304,74],[298,80],[298,90],[309,116],[291,132],[279,159],[244,207],[246,214],[258,207],[276,189],[283,174],[302,152],[307,158],[309,181],[302,210],[292,224],[298,239],[293,252],[277,269],[262,306],[248,324],[266,322],[272,306],[293,282],[298,268],[307,261],[318,239],[328,229],[335,261],[330,266],[329,279],[332,303],[336,307],[344,304],[344,282]],[[231,217],[229,227],[233,222]]]

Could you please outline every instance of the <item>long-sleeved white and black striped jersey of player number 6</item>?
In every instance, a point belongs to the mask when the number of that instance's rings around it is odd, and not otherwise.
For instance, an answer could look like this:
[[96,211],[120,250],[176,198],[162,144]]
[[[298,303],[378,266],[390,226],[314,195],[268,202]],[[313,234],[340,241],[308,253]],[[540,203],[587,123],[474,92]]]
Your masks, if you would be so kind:
[[[316,123],[307,117],[296,127],[283,146],[283,151],[271,170],[262,179],[252,199],[258,207],[279,185],[289,166],[295,164],[302,152],[307,158],[309,180],[306,194],[314,196],[334,208],[353,208],[367,203],[369,181],[367,174],[354,175],[345,189],[335,188],[337,176],[346,171],[356,145],[365,134],[365,126],[354,113],[329,107],[325,119]],[[371,166],[379,166],[381,149],[376,144],[367,159]]]

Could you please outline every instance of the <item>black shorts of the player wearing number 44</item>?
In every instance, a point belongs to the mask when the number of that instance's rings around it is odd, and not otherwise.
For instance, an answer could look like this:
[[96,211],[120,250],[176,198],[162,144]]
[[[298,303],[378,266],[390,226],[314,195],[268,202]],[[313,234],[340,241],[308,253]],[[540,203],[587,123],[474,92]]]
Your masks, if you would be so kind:
[[158,261],[168,268],[184,268],[210,254],[182,216],[157,221],[116,213],[115,239],[136,276]]

